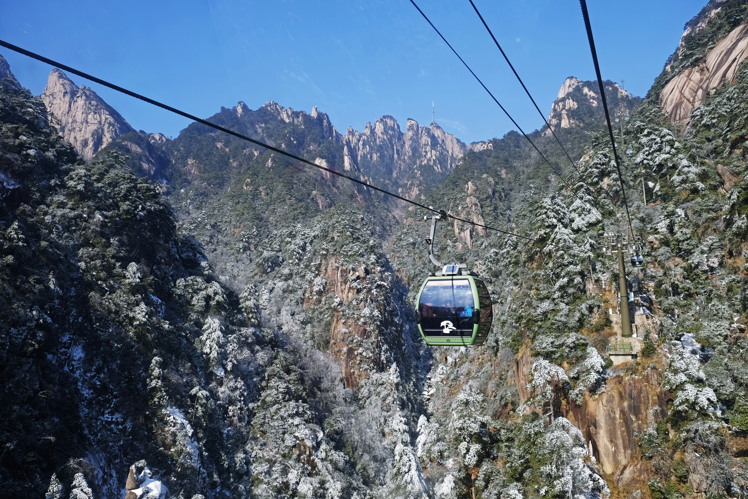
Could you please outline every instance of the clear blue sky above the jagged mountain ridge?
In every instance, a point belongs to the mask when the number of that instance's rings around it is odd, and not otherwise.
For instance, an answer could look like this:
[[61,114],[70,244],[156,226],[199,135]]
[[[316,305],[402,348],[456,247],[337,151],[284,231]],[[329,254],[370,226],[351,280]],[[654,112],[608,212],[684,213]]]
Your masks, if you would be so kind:
[[[548,113],[567,76],[595,79],[579,3],[473,0]],[[604,79],[643,96],[707,0],[589,0]],[[542,119],[468,0],[419,0],[526,132]],[[198,116],[243,100],[317,105],[340,132],[392,114],[436,120],[472,142],[513,128],[408,0],[24,0],[0,5],[0,38]],[[0,53],[41,94],[51,67]],[[176,136],[188,121],[72,76],[135,127]]]

